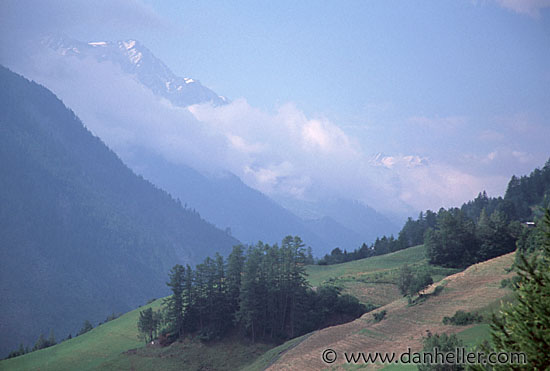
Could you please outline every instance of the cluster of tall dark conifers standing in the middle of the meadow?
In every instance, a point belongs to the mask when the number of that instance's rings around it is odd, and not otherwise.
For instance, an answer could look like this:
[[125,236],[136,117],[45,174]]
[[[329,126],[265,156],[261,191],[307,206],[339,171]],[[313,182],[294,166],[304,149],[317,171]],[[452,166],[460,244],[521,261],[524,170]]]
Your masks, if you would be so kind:
[[357,318],[367,308],[332,286],[313,290],[299,237],[281,246],[259,242],[235,246],[227,258],[216,254],[192,269],[176,265],[163,312],[142,311],[138,328],[146,340],[161,329],[161,340],[196,335],[208,341],[238,331],[252,341],[280,341]]

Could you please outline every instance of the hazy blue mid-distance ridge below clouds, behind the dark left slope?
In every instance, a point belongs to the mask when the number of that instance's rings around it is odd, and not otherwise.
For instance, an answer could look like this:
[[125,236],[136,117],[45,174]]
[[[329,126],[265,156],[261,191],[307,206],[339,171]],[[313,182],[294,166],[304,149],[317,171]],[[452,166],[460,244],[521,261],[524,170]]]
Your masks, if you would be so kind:
[[231,173],[203,174],[145,150],[136,151],[125,161],[242,242],[275,243],[287,235],[298,235],[318,255],[335,247],[302,219]]

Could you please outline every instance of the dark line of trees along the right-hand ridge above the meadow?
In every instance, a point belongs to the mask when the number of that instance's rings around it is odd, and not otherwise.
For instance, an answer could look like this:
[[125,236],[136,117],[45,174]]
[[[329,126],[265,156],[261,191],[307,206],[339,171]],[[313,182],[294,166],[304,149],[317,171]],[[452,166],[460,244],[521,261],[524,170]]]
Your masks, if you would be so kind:
[[352,252],[335,248],[318,264],[344,263],[426,244],[430,263],[465,267],[513,251],[516,241],[528,235],[520,222],[540,217],[549,205],[550,159],[529,176],[513,176],[504,197],[488,197],[483,191],[460,208],[421,212],[416,220],[408,218],[397,238],[383,236]]

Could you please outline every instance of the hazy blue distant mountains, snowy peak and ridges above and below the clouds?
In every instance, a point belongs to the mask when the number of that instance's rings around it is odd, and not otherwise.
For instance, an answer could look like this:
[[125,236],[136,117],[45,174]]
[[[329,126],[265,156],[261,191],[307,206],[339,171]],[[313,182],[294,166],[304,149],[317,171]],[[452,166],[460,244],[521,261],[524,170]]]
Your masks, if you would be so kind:
[[[118,65],[154,94],[177,106],[228,102],[196,79],[176,76],[134,40],[84,43],[57,37],[43,43],[61,55]],[[135,172],[243,242],[274,243],[288,234],[297,234],[321,256],[335,247],[354,249],[377,236],[398,231],[386,217],[357,201],[326,200],[325,204],[325,200],[322,203],[285,200],[282,207],[280,200],[274,201],[250,188],[233,174],[204,174],[142,147],[134,147],[130,152],[120,156]],[[312,209],[314,213],[309,212]]]

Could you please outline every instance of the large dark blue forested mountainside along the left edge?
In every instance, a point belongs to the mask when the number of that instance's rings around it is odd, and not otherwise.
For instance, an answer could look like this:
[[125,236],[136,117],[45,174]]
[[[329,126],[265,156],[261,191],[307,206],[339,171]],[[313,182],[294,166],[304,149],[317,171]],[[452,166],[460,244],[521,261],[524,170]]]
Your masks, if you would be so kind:
[[46,88],[0,67],[0,353],[168,293],[238,241],[135,175]]

